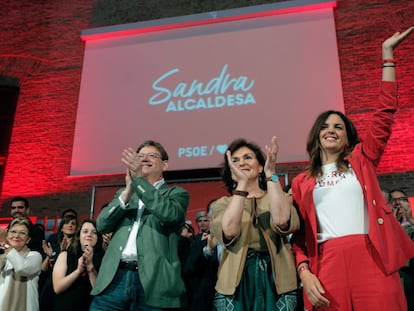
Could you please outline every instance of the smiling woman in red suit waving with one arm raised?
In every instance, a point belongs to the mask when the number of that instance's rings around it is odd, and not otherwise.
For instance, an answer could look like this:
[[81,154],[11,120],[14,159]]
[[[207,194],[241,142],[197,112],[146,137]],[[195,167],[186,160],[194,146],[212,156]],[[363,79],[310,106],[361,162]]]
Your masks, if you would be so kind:
[[292,184],[302,218],[293,252],[309,310],[407,310],[397,271],[414,244],[381,195],[376,167],[397,108],[393,50],[413,30],[382,44],[380,107],[363,141],[338,111],[319,115],[310,130],[309,168]]

